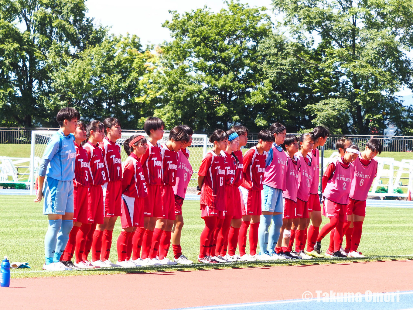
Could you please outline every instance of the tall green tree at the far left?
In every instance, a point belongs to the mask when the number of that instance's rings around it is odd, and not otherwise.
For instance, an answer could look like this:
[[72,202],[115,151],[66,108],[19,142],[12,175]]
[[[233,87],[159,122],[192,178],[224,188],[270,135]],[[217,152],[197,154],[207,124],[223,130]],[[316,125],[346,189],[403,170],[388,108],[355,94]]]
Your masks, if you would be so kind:
[[85,12],[84,0],[0,0],[0,124],[55,117],[46,104],[52,73],[106,33]]

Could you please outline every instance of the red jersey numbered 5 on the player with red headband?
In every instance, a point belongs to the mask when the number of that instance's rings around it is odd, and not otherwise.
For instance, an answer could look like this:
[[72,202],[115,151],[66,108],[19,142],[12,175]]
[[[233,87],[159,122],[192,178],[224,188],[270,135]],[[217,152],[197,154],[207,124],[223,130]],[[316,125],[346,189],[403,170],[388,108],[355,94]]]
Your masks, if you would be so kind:
[[139,158],[133,153],[126,158],[123,165],[122,193],[135,198],[145,198],[148,196],[142,165]]

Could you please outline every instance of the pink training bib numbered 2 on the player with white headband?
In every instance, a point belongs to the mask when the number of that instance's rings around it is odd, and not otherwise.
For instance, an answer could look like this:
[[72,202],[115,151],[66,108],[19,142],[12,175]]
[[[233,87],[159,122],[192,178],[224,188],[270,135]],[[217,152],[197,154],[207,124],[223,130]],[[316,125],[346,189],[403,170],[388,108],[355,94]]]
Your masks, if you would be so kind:
[[347,205],[349,203],[351,180],[354,177],[354,167],[352,165],[347,168],[343,167],[341,157],[335,158],[332,163],[335,166],[335,171],[325,186],[323,196],[332,202]]

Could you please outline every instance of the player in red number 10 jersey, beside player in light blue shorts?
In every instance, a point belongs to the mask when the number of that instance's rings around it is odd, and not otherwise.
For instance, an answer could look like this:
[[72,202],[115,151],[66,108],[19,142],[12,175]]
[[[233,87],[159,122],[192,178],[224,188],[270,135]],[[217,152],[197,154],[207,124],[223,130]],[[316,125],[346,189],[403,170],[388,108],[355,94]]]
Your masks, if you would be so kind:
[[[238,235],[241,261],[256,260],[256,247],[258,245],[259,217],[261,215],[261,191],[265,163],[272,143],[275,141],[269,130],[261,130],[258,134],[258,144],[247,150],[244,154],[244,167],[242,172],[242,224]],[[245,253],[247,244],[247,230],[249,229],[249,256]]]

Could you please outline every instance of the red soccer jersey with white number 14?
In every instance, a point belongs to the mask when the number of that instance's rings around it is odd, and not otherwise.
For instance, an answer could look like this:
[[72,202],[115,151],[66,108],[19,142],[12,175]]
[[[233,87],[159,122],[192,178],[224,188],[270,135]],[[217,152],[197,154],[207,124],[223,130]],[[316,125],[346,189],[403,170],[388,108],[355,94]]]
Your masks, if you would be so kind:
[[146,153],[140,157],[146,184],[162,185],[161,148],[147,141]]

